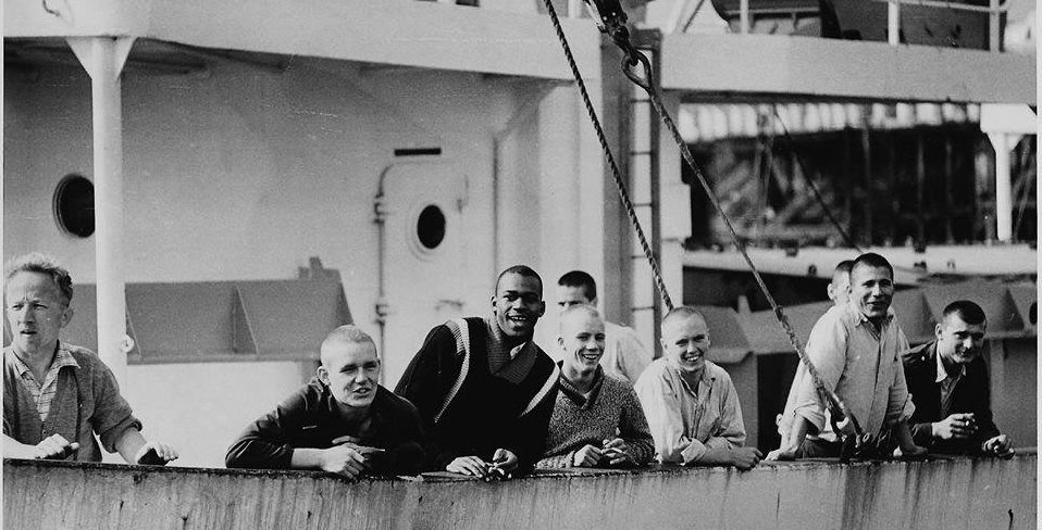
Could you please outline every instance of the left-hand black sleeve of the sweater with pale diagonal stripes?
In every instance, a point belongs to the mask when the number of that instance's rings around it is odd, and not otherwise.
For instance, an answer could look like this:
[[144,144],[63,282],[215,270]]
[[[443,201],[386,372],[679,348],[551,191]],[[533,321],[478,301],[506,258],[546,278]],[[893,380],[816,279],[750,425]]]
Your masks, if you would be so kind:
[[422,449],[425,455],[422,469],[443,471],[457,454],[442,440],[435,429],[434,416],[446,398],[444,380],[455,380],[459,374],[456,361],[456,339],[447,326],[437,326],[427,333],[420,351],[409,363],[395,388],[395,393],[417,407],[421,431],[425,433]]

